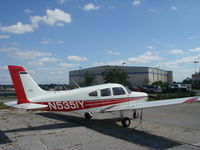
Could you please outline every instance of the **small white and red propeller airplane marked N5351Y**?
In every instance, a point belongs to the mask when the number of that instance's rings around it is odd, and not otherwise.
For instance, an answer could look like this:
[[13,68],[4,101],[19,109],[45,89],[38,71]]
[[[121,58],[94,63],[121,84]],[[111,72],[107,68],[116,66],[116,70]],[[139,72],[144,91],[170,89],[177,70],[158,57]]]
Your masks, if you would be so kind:
[[147,93],[133,92],[121,84],[108,83],[67,91],[45,91],[21,66],[8,66],[18,101],[5,103],[8,106],[44,111],[78,111],[91,119],[92,112],[119,111],[123,127],[131,123],[125,111],[133,110],[133,118],[138,118],[136,109],[199,101],[199,97],[177,98],[148,102]]

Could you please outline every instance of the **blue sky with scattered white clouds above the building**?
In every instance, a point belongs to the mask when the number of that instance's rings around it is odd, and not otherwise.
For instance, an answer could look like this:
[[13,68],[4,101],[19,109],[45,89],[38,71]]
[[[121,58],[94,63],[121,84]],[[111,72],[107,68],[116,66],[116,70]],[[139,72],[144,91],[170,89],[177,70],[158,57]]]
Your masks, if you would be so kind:
[[[68,83],[70,70],[160,67],[182,81],[200,61],[199,0],[1,0],[0,84],[7,65],[38,83]],[[199,64],[197,64],[199,68]]]

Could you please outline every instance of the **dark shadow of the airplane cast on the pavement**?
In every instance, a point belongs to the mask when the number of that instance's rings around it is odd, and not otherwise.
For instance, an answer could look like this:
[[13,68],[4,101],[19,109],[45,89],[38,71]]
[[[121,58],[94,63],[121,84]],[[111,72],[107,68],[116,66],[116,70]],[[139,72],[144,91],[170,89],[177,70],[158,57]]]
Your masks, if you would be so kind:
[[99,133],[109,135],[115,138],[119,138],[121,140],[138,144],[150,149],[168,149],[168,148],[173,148],[182,144],[182,143],[173,141],[171,139],[161,137],[158,135],[153,135],[151,133],[147,133],[144,131],[139,131],[139,130],[131,129],[131,128],[123,128],[120,125],[116,124],[116,122],[119,121],[119,118],[86,120],[82,117],[78,117],[74,115],[58,114],[58,113],[51,113],[51,112],[41,112],[41,113],[36,113],[36,114],[43,117],[64,121],[64,123],[41,125],[41,126],[36,126],[36,127],[31,127],[31,128],[12,129],[12,130],[6,130],[4,131],[4,133],[38,131],[38,130],[49,130],[49,129],[85,126]]

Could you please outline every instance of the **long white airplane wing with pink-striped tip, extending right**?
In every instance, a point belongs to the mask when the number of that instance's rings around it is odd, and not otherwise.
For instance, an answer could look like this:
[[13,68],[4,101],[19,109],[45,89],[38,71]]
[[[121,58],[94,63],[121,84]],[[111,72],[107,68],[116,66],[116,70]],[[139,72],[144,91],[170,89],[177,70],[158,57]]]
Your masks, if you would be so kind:
[[152,102],[141,102],[135,104],[121,104],[112,108],[109,108],[105,111],[120,111],[120,110],[133,110],[138,108],[148,108],[148,107],[157,107],[157,106],[165,106],[165,105],[173,105],[173,104],[181,104],[181,103],[192,103],[200,101],[200,97],[187,97],[187,98],[175,98],[175,99],[165,99],[159,101]]

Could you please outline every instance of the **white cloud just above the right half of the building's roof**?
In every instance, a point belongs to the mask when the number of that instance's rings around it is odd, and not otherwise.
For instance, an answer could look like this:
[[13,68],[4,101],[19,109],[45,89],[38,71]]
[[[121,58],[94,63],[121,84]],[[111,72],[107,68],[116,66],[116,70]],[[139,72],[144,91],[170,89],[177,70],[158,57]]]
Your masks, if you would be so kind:
[[161,60],[161,59],[162,58],[158,55],[158,52],[147,51],[142,55],[139,55],[137,57],[130,57],[127,60],[129,64],[135,64],[135,63],[149,63],[151,61]]

